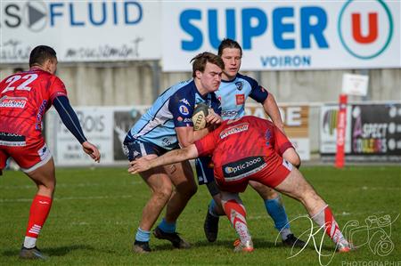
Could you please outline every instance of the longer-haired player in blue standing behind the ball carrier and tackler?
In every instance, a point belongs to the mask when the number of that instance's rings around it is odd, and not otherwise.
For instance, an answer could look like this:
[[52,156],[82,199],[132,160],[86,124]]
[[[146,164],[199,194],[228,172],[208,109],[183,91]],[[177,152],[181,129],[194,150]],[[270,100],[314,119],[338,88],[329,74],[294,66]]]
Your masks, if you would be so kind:
[[[217,98],[221,101],[221,116],[223,119],[243,117],[245,114],[245,102],[250,97],[263,105],[274,125],[284,132],[280,110],[274,100],[274,96],[259,85],[255,79],[238,73],[241,68],[241,45],[231,39],[225,39],[218,47],[218,55],[225,62],[222,82],[216,92]],[[280,142],[280,140],[277,141]],[[278,147],[280,147],[280,143],[278,143]],[[280,155],[292,165],[299,167],[300,159],[295,149],[291,145],[282,147],[284,149],[280,150]],[[210,195],[213,197],[204,222],[204,230],[209,242],[214,242],[217,239],[218,217],[225,215],[225,212],[221,206],[219,189],[214,181],[210,158],[198,158],[196,160],[196,169],[200,185],[206,184]],[[257,181],[250,181],[250,186],[263,198],[266,211],[274,220],[274,227],[280,231],[282,243],[285,246],[304,246],[305,242],[291,233],[288,217],[280,195],[274,189],[270,189]]]

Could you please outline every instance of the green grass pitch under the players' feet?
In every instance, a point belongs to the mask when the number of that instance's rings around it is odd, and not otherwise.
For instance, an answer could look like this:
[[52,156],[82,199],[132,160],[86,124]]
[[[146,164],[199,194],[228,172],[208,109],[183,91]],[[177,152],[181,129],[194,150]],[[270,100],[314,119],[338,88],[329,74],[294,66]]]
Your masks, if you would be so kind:
[[[340,228],[346,222],[359,222],[360,230],[353,241],[360,247],[353,253],[333,254],[332,261],[323,257],[323,264],[401,265],[401,217],[397,218],[401,213],[399,166],[354,166],[344,170],[314,166],[302,168],[302,173],[330,204]],[[139,176],[129,175],[125,168],[58,169],[57,181],[53,209],[38,240],[39,248],[51,257],[47,262],[21,262],[18,253],[36,189],[23,173],[6,171],[0,177],[0,265],[293,266],[320,263],[312,240],[305,250],[290,259],[290,248],[282,247],[281,243],[274,245],[277,231],[266,215],[262,200],[251,189],[241,197],[247,207],[256,248],[252,254],[233,253],[236,236],[225,217],[220,219],[217,242],[207,242],[203,220],[209,193],[204,186],[192,197],[177,223],[177,230],[192,243],[191,249],[174,250],[169,242],[151,238],[154,252],[133,254],[135,230],[149,197],[149,190]],[[306,214],[298,202],[289,197],[283,200],[290,219]],[[376,224],[366,230],[366,218],[386,214],[393,222],[391,226]],[[308,228],[306,218],[291,223],[297,236]],[[387,238],[381,238],[386,235]],[[316,241],[320,238],[321,233],[315,235]],[[370,243],[372,249],[366,243]],[[332,254],[332,251],[331,242],[324,240],[323,254]]]

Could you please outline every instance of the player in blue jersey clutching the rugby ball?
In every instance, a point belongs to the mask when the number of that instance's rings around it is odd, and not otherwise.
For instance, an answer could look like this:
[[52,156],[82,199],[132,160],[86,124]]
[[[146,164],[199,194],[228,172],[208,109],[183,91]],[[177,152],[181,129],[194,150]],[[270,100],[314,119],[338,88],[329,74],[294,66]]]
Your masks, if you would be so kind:
[[[222,122],[220,102],[214,92],[220,85],[225,64],[211,52],[202,52],[192,60],[193,78],[169,87],[127,133],[124,151],[129,161],[139,157],[151,159],[168,150],[187,147]],[[210,108],[206,117],[209,127],[194,131],[192,113],[196,104],[201,102]],[[153,230],[153,235],[169,240],[176,248],[190,247],[176,233],[176,220],[197,190],[189,162],[156,167],[141,173],[141,176],[151,189],[151,198],[143,207],[134,252],[151,251],[151,228],[165,206],[166,215]]]

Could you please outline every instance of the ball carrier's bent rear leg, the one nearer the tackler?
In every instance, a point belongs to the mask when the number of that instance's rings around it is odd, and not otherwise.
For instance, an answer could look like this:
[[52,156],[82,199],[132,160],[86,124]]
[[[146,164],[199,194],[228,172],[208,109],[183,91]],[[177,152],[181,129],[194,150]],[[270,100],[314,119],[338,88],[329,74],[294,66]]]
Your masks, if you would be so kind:
[[189,243],[176,233],[176,220],[198,189],[193,178],[192,167],[189,161],[184,161],[164,166],[164,168],[176,190],[168,200],[166,216],[153,234],[156,238],[169,240],[176,248],[188,248],[190,247]]

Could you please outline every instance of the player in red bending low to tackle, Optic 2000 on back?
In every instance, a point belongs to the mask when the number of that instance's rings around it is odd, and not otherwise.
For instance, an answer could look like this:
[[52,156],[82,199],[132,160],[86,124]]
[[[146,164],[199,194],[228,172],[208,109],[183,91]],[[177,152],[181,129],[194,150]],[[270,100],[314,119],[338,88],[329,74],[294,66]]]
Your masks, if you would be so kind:
[[[185,149],[177,149],[154,159],[140,158],[131,162],[130,173],[147,171],[151,167],[168,165],[199,156],[212,156],[217,186],[220,189],[225,215],[240,240],[234,251],[253,251],[252,238],[246,221],[246,210],[238,193],[249,181],[258,181],[299,200],[311,219],[336,244],[338,251],[353,247],[342,235],[331,214],[331,208],[305,180],[299,170],[283,159],[277,150],[277,138],[285,135],[270,121],[258,117],[226,120],[215,131]],[[282,145],[289,145],[290,141]]]

